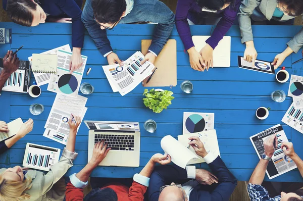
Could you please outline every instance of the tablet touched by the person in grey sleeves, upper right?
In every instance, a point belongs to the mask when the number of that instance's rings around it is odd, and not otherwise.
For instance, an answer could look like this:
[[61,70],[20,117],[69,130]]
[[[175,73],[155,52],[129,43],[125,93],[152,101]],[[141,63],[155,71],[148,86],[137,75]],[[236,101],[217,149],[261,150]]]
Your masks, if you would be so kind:
[[259,71],[262,73],[275,74],[275,68],[271,62],[256,60],[255,66],[252,68],[252,63],[244,60],[243,57],[238,56],[238,66],[239,68],[244,68],[252,71]]

